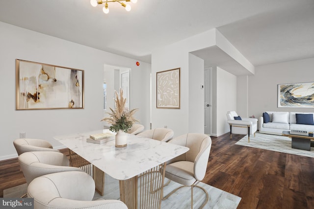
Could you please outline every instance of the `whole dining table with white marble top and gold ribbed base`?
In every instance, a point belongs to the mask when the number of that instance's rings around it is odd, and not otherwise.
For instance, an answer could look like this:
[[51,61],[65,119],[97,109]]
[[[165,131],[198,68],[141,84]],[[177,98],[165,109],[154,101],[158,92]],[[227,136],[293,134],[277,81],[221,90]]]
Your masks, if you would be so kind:
[[[160,209],[166,162],[186,153],[189,148],[132,134],[127,135],[127,146],[119,148],[115,146],[114,136],[102,144],[86,140],[92,134],[107,131],[87,131],[53,138],[90,162],[95,168],[93,172],[102,172],[98,177],[102,183],[105,174],[119,180],[120,200],[129,209]],[[95,183],[98,181],[95,179]]]

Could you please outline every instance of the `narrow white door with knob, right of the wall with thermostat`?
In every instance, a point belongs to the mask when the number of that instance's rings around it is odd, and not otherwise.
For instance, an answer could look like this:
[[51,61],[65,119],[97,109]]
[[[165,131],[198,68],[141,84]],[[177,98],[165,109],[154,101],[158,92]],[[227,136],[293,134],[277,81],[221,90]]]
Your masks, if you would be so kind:
[[204,69],[204,133],[211,134],[211,68]]

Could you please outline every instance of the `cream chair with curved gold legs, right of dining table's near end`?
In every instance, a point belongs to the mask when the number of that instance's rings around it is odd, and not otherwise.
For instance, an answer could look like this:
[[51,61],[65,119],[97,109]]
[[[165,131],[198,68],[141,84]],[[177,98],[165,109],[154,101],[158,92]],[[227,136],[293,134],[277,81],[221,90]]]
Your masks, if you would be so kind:
[[189,151],[167,162],[165,177],[171,181],[183,184],[183,186],[169,193],[163,200],[167,199],[178,189],[191,186],[191,208],[193,208],[193,187],[198,187],[206,193],[206,200],[201,207],[203,208],[209,199],[208,192],[203,187],[195,185],[195,183],[202,181],[206,174],[211,148],[209,135],[187,133],[170,140],[168,143],[188,147]]

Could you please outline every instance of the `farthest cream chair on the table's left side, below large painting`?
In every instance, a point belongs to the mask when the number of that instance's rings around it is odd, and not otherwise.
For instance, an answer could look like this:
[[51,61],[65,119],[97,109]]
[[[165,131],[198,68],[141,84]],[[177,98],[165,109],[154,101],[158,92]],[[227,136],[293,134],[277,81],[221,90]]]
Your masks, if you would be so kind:
[[52,148],[52,145],[43,139],[19,138],[13,141],[13,145],[18,155],[31,151],[53,151],[59,152]]

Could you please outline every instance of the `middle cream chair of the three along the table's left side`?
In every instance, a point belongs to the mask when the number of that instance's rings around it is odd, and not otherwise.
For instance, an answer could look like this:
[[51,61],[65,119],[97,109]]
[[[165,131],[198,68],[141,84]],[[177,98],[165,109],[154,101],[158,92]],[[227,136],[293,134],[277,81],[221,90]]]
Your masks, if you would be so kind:
[[70,167],[68,157],[59,152],[26,152],[19,156],[18,161],[27,184],[39,176],[50,173],[63,171],[84,172],[80,168]]

